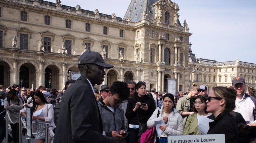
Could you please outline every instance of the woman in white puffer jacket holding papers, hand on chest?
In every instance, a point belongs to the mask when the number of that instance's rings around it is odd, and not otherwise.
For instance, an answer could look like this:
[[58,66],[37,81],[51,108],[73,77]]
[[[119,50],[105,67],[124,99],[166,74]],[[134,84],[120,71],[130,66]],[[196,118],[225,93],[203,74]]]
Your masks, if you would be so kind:
[[[159,116],[157,117],[158,111]],[[175,109],[174,96],[170,93],[163,96],[163,106],[154,111],[147,125],[149,128],[152,128],[156,126],[155,121],[161,120],[163,120],[164,125],[156,128],[158,130],[156,143],[159,140],[167,140],[168,136],[183,135],[183,119],[178,110]],[[159,131],[162,131],[161,134],[159,134]]]

